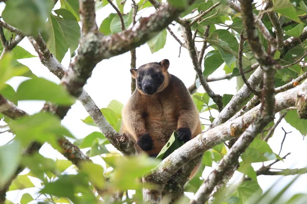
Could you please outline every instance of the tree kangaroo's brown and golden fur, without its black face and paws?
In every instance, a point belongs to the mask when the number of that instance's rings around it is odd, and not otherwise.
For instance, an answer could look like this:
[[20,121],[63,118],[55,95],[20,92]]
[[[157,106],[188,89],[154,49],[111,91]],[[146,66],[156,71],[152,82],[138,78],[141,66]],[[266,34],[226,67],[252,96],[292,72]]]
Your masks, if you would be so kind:
[[[202,133],[199,112],[187,88],[180,79],[168,73],[168,60],[160,64],[142,66],[143,70],[154,67],[155,71],[162,71],[164,82],[158,90],[148,95],[137,87],[122,111],[120,132],[136,142],[140,136],[149,134],[154,148],[146,151],[148,155],[159,154],[174,130],[188,128],[191,138]],[[131,70],[131,73],[137,78],[139,71]]]

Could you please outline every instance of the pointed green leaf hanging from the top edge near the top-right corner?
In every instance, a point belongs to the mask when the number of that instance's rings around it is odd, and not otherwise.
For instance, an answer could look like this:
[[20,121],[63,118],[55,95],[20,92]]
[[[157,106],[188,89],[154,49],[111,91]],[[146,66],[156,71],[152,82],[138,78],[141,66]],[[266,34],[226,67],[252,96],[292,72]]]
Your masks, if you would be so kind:
[[298,23],[302,23],[302,21],[298,17],[294,5],[291,2],[287,0],[273,0],[273,2],[274,6],[270,10],[276,11],[281,15],[286,16],[287,18],[290,18],[291,20],[294,20]]

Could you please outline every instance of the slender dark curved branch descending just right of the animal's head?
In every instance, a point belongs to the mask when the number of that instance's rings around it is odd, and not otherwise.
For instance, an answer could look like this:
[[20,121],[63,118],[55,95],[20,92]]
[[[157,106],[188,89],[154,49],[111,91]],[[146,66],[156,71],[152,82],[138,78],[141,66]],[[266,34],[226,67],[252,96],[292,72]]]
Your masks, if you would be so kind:
[[187,44],[187,48],[190,54],[190,58],[192,60],[193,67],[198,75],[198,78],[200,79],[200,82],[203,88],[205,89],[206,93],[209,95],[210,98],[213,99],[218,110],[221,111],[223,109],[222,96],[215,94],[211,90],[211,88],[209,87],[204,77],[204,74],[202,72],[202,67],[200,66],[199,61],[198,61],[198,57],[197,57],[198,55],[196,54],[195,44],[194,44],[194,41],[192,40],[192,31],[191,31],[189,22],[187,20],[185,20],[184,34],[185,34],[186,44]]

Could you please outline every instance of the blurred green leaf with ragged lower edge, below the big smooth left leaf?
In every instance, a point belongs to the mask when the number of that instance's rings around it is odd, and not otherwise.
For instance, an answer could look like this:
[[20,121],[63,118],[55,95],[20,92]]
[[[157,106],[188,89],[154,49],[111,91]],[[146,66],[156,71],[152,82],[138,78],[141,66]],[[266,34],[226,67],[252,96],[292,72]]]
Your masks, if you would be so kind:
[[25,116],[12,120],[10,128],[16,134],[15,139],[24,146],[32,141],[49,142],[58,147],[57,136],[64,135],[70,138],[74,136],[61,125],[60,119],[47,112],[39,112],[31,116]]

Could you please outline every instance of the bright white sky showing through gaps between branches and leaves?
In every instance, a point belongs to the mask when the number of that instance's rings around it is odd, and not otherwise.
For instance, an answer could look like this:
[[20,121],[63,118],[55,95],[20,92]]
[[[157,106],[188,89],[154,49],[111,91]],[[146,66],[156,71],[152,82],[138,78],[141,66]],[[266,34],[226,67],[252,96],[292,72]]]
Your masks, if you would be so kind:
[[[4,4],[0,4],[0,11],[4,9]],[[127,1],[125,5],[125,12],[130,10],[130,1]],[[150,8],[146,9],[146,11],[142,12],[142,16],[148,16],[150,13],[154,12],[155,9]],[[103,9],[97,12],[97,24],[100,25],[102,20],[109,15],[109,13],[115,13],[113,8],[109,5],[105,6]],[[174,33],[178,30],[177,26],[170,25],[170,28]],[[181,40],[181,34],[176,33],[177,37]],[[32,55],[37,56],[34,48],[30,44],[29,40],[25,38],[23,41],[19,43],[20,46],[24,47],[28,50]],[[185,48],[181,49],[181,56],[178,58],[179,55],[179,43],[175,41],[169,34],[167,36],[167,42],[163,49],[159,52],[151,54],[150,49],[147,44],[144,44],[137,48],[137,67],[141,66],[142,64],[148,62],[159,62],[163,59],[168,59],[170,61],[170,67],[168,71],[171,74],[176,75],[179,77],[184,84],[188,87],[190,86],[195,77],[195,71],[193,69],[189,54]],[[198,45],[200,49],[201,44]],[[206,53],[209,52],[211,49],[207,49]],[[43,66],[39,59],[36,58],[29,58],[19,60],[20,63],[27,65],[34,74],[38,77],[46,78],[52,82],[59,83],[59,79],[55,77],[45,66]],[[62,60],[62,64],[65,67],[69,65],[69,55],[65,55],[64,59]],[[224,64],[215,71],[214,75],[224,74],[223,71]],[[87,81],[87,84],[84,86],[84,89],[91,95],[94,99],[95,103],[99,108],[105,108],[108,103],[113,100],[119,100],[121,103],[125,104],[130,96],[130,53],[127,52],[117,57],[113,57],[108,60],[103,60],[102,62],[98,63],[95,67],[92,77]],[[212,74],[213,75],[213,74]],[[27,78],[21,79],[14,78],[9,80],[7,83],[10,84],[15,90],[17,89],[18,85],[26,80]],[[211,89],[218,94],[235,94],[236,91],[236,80],[232,79],[230,81],[218,81],[218,82],[211,82],[209,83]],[[199,92],[204,92],[202,88],[199,89]],[[40,111],[42,108],[44,101],[19,101],[18,107],[20,109],[25,110],[29,114],[34,114]],[[213,117],[217,116],[217,111],[212,111]],[[68,115],[62,120],[62,124],[67,127],[68,130],[76,138],[83,138],[93,131],[99,131],[98,128],[89,126],[84,124],[80,119],[84,119],[88,116],[87,112],[84,110],[83,106],[76,102],[75,105],[72,106],[72,109],[68,112]],[[208,112],[201,115],[202,117],[209,118]],[[278,117],[278,116],[276,116]],[[277,118],[278,119],[278,118]],[[204,121],[206,123],[206,121]],[[3,124],[0,122],[0,125]],[[278,154],[280,149],[280,143],[283,138],[283,131],[281,130],[281,126],[287,132],[292,131],[291,134],[287,135],[286,140],[284,141],[283,148],[281,151],[280,156],[286,155],[288,152],[292,152],[290,156],[287,157],[284,162],[278,162],[274,165],[274,168],[302,168],[307,165],[307,161],[305,160],[305,155],[307,155],[306,147],[306,140],[302,140],[301,134],[295,130],[292,126],[290,126],[286,121],[282,120],[282,122],[277,127],[273,138],[269,140],[269,145],[273,149],[273,151]],[[11,134],[5,133],[0,134],[0,145],[7,143],[12,138]],[[84,151],[85,152],[85,151]],[[57,151],[55,151],[50,145],[43,145],[40,149],[40,153],[48,158],[58,158],[64,159],[62,155],[60,155]],[[94,157],[91,158],[94,162],[102,164],[103,161],[101,158]],[[270,163],[270,162],[269,162]],[[257,163],[253,164],[255,170],[257,170],[262,164]],[[215,164],[214,166],[215,167]],[[203,177],[207,176],[211,172],[212,168],[207,168],[204,171]],[[242,174],[239,172],[235,173],[235,176],[231,180],[232,182],[239,181]],[[258,182],[262,190],[268,189],[275,181],[280,180],[280,183],[276,187],[276,189],[282,188],[286,185],[293,176],[258,176]],[[34,181],[34,180],[33,180]],[[296,193],[307,193],[305,188],[305,184],[307,183],[307,175],[302,175],[300,179],[295,182],[295,185],[284,194],[286,197],[290,197]],[[39,182],[35,181],[35,185],[40,187]],[[8,199],[11,201],[18,203],[21,196],[28,192],[34,196],[35,189],[22,190],[22,191],[11,191],[7,193]],[[190,196],[190,195],[189,195]],[[35,202],[31,202],[35,203]]]

